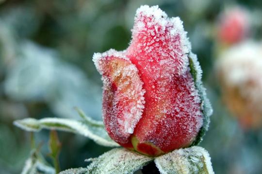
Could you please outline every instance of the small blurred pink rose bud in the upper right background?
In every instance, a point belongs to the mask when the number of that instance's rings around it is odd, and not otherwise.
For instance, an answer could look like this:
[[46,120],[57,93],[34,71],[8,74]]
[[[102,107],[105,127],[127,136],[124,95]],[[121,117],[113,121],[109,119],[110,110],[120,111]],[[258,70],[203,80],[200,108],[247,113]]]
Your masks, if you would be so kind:
[[244,9],[228,9],[220,16],[218,38],[224,44],[234,44],[246,38],[249,28],[249,17]]

